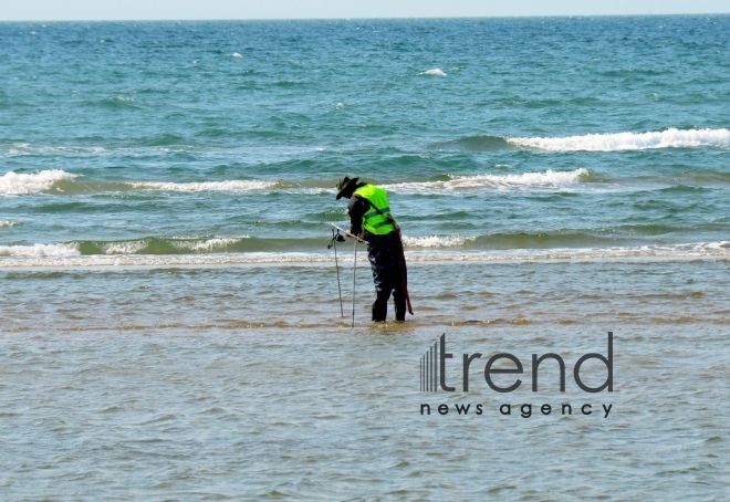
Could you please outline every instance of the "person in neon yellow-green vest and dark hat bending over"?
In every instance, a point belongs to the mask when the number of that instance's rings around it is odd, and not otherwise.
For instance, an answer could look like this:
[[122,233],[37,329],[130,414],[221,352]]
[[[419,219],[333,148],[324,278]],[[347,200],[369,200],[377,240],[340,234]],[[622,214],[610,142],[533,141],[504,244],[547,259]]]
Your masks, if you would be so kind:
[[390,215],[387,192],[375,185],[344,177],[337,182],[337,200],[345,197],[350,212],[350,233],[367,242],[367,259],[373,269],[375,302],[373,321],[385,321],[393,294],[396,321],[406,320],[406,306],[413,315],[408,297],[406,258],[400,228]]

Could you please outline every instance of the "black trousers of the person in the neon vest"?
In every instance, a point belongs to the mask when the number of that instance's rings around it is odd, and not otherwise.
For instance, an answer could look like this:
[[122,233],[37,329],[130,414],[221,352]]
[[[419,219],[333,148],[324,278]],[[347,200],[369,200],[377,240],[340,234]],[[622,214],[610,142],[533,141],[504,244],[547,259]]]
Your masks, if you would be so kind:
[[375,302],[373,302],[373,321],[385,321],[388,314],[388,300],[393,294],[396,321],[406,318],[406,262],[401,253],[398,232],[386,236],[365,236],[371,245],[367,247],[367,259],[373,269],[375,282]]

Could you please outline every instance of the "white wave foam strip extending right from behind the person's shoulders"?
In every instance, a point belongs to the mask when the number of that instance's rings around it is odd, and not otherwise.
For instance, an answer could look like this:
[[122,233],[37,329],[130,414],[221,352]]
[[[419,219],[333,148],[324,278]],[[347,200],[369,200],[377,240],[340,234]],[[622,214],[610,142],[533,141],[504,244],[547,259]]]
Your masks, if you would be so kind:
[[585,168],[572,171],[523,172],[521,175],[477,175],[453,176],[447,181],[404,182],[388,185],[388,189],[395,192],[434,192],[474,190],[480,188],[565,188],[570,185],[581,182],[588,176]]

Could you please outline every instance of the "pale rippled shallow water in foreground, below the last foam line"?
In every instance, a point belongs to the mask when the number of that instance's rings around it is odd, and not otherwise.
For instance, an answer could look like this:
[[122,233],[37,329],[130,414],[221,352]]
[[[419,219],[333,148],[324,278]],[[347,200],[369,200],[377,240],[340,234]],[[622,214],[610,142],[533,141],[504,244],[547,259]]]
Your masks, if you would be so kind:
[[[417,265],[417,315],[372,325],[364,287],[354,330],[340,317],[332,268],[4,272],[0,485],[30,499],[90,490],[129,499],[633,499],[650,490],[721,500],[726,269]],[[607,331],[614,393],[583,393],[572,366],[606,354]],[[509,352],[525,364],[523,387],[493,393],[474,364],[469,393],[418,393],[418,360],[442,333],[455,354],[450,379],[462,353]],[[548,365],[540,391],[530,391],[531,354],[549,352],[569,366],[564,394]],[[588,369],[591,381],[605,378]],[[438,415],[439,404],[449,415]],[[483,414],[458,416],[457,404],[481,404]],[[512,416],[500,415],[503,404]],[[544,404],[551,416],[540,414]],[[573,415],[560,415],[563,404]],[[595,412],[582,415],[585,404]]]

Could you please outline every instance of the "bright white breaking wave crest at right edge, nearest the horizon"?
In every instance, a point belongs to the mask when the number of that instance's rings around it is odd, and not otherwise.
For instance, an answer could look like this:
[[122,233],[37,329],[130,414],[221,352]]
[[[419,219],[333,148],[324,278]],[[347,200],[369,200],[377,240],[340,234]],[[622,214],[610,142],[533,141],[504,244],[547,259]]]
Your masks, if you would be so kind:
[[651,148],[730,147],[730,129],[669,128],[658,133],[588,134],[569,137],[510,137],[507,142],[551,151],[619,151]]

